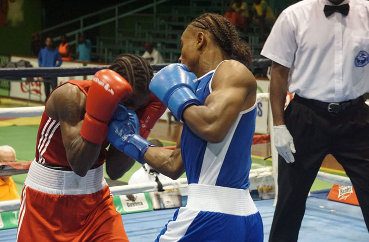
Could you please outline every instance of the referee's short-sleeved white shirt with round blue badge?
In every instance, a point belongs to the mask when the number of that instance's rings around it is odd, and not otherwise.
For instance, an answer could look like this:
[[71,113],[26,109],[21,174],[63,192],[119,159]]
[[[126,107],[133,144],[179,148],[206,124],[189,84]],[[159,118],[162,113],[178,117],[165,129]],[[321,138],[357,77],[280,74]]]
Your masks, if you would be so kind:
[[346,3],[347,16],[326,17],[329,0],[303,0],[276,20],[261,55],[290,68],[290,93],[343,102],[369,92],[369,1]]

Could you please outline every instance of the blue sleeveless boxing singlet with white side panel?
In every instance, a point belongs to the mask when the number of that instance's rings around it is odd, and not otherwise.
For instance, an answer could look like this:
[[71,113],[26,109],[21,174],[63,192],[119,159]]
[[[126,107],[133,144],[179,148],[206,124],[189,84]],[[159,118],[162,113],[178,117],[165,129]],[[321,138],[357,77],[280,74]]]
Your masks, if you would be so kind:
[[[210,71],[199,78],[196,96],[202,105],[212,92],[211,82],[214,72],[215,70]],[[200,138],[184,123],[181,152],[188,184],[248,188],[255,119],[256,105],[240,113],[220,143],[210,143]]]

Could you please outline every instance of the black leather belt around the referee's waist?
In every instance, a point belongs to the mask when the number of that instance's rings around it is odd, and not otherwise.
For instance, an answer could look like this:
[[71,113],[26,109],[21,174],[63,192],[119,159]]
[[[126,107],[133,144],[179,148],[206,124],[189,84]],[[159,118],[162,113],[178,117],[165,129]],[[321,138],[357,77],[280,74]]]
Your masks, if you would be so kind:
[[364,102],[364,99],[362,96],[360,96],[359,98],[356,99],[352,99],[349,101],[345,101],[345,102],[341,102],[341,103],[325,103],[325,102],[321,102],[318,100],[313,100],[313,99],[306,99],[306,98],[302,98],[298,95],[295,94],[293,100],[295,100],[298,103],[302,103],[302,104],[307,104],[307,105],[312,105],[321,109],[324,109],[330,113],[340,113],[348,108],[350,108],[351,106],[358,104],[360,102]]

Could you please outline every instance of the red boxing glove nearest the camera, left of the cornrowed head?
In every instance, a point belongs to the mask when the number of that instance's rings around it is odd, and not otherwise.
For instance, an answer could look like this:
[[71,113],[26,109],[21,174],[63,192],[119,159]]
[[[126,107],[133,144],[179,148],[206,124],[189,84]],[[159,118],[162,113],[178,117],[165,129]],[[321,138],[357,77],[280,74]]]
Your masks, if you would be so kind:
[[128,99],[132,92],[129,83],[117,72],[110,69],[96,72],[87,96],[81,136],[91,143],[101,144],[118,104]]

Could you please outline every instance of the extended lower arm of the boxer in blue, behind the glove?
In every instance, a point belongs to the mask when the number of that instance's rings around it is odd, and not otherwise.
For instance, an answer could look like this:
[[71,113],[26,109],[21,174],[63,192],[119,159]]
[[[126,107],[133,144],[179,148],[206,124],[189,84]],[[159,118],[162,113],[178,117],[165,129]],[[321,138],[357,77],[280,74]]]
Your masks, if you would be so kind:
[[161,174],[173,180],[178,179],[185,171],[181,156],[181,135],[177,138],[177,146],[174,150],[148,147],[143,160]]

